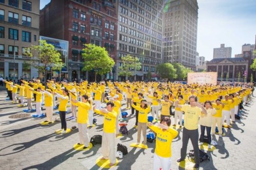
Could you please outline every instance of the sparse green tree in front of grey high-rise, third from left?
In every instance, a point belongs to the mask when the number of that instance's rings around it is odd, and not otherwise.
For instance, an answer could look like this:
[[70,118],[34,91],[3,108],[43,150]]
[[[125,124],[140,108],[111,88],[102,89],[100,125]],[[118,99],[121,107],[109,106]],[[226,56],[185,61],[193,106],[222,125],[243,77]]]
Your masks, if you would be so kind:
[[[141,68],[141,63],[137,57],[127,55],[121,58],[122,65],[119,67],[119,76],[132,76],[133,70],[139,70]],[[130,70],[130,68],[132,70]]]

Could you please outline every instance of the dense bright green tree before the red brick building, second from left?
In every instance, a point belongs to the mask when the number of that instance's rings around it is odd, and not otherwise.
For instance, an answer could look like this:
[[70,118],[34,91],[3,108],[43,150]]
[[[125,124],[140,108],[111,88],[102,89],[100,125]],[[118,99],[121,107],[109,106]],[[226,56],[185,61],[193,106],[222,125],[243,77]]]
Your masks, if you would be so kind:
[[82,58],[84,59],[84,66],[82,70],[95,71],[95,82],[97,75],[104,75],[111,71],[115,65],[115,61],[109,57],[108,52],[104,47],[97,46],[95,44],[84,44]]

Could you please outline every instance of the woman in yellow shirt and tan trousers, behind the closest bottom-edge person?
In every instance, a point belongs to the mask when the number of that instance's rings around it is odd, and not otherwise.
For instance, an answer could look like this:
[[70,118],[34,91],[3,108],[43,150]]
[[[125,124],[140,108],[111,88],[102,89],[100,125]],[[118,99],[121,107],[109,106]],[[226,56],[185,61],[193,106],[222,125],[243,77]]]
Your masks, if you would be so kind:
[[138,111],[138,136],[137,144],[140,143],[141,131],[143,135],[143,144],[146,145],[146,123],[147,123],[147,113],[150,112],[151,107],[148,105],[146,100],[141,100],[140,106],[135,106],[132,101],[132,107]]

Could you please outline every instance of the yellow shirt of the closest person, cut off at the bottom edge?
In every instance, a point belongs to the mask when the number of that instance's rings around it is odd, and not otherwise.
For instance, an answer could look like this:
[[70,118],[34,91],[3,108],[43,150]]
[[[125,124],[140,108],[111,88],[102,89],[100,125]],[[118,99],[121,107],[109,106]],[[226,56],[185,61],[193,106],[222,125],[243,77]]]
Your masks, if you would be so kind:
[[172,141],[178,135],[178,131],[169,128],[166,131],[153,125],[150,127],[154,132],[157,133],[156,137],[156,149],[155,153],[158,156],[169,158],[172,156]]

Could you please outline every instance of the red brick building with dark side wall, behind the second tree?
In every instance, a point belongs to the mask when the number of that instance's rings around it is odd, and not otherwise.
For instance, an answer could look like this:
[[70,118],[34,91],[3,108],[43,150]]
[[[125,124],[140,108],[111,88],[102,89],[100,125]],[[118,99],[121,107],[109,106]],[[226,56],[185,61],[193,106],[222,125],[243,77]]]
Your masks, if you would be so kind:
[[[114,0],[51,0],[40,10],[40,35],[69,41],[68,80],[94,80],[94,71],[82,71],[85,43],[104,46],[116,61],[117,3]],[[113,78],[115,69],[107,74]],[[100,80],[101,77],[98,77]]]

